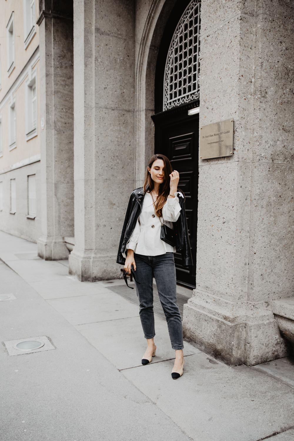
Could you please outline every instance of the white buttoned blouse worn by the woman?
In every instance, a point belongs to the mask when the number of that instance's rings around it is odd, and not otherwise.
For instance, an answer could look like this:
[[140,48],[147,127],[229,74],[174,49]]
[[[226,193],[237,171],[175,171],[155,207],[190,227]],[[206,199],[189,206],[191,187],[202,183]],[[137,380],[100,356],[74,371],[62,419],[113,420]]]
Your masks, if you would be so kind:
[[[162,208],[161,222],[166,224],[172,230],[174,226],[172,222],[179,219],[181,206],[179,203],[178,194],[183,198],[184,196],[179,191],[176,191],[175,198],[167,198]],[[155,202],[155,201],[154,201]],[[145,193],[142,211],[137,219],[134,231],[127,242],[126,252],[122,253],[124,258],[127,258],[127,250],[130,248],[134,253],[144,254],[145,256],[157,256],[167,252],[176,252],[176,247],[172,247],[169,243],[160,239],[161,223],[159,217],[155,215],[153,199],[150,193]]]

